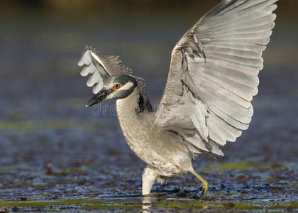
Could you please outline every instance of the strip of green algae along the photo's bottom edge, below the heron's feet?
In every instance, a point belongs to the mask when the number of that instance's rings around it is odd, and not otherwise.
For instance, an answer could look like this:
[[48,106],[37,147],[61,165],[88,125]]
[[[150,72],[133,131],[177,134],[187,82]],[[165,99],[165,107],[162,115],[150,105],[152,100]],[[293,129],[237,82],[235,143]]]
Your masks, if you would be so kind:
[[28,200],[26,202],[19,201],[3,201],[0,202],[0,208],[38,208],[45,207],[59,209],[72,205],[77,209],[96,210],[96,209],[126,209],[137,210],[143,208],[152,209],[204,209],[204,210],[273,210],[273,209],[298,209],[298,202],[227,202],[227,201],[206,201],[206,200],[158,200],[152,203],[142,203],[141,200],[99,200],[99,199],[78,199],[78,200],[57,200],[57,201],[41,201]]

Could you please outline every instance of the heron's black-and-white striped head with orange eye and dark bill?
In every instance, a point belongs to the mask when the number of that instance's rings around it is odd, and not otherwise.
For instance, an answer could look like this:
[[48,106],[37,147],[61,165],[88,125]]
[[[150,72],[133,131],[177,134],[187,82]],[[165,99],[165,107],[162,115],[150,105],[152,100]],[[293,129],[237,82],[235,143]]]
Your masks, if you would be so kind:
[[108,99],[124,99],[133,92],[137,85],[136,79],[130,75],[111,75],[104,81],[101,91],[89,100],[86,107]]

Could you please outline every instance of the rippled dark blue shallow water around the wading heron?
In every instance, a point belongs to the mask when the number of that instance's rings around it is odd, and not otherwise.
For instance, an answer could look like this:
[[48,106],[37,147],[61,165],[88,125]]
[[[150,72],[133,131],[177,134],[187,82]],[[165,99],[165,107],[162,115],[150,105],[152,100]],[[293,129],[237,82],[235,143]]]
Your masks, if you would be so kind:
[[159,14],[143,24],[135,16],[103,18],[96,27],[36,14],[0,20],[0,211],[297,211],[297,43],[287,33],[297,32],[294,25],[277,23],[248,131],[223,148],[224,158],[194,162],[209,194],[201,200],[199,182],[187,175],[142,197],[145,164],[111,108],[104,115],[84,108],[92,93],[76,66],[88,44],[121,55],[158,103],[172,46],[193,16]]

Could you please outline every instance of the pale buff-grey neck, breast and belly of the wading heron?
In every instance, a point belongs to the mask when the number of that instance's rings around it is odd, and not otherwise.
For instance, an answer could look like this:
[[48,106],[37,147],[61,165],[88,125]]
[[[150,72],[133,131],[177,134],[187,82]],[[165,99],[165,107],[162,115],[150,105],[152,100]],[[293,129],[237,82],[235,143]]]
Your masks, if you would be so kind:
[[188,169],[191,158],[182,139],[155,126],[153,114],[139,115],[136,111],[128,114],[124,106],[130,104],[117,101],[118,120],[131,150],[164,176],[179,175],[184,168]]

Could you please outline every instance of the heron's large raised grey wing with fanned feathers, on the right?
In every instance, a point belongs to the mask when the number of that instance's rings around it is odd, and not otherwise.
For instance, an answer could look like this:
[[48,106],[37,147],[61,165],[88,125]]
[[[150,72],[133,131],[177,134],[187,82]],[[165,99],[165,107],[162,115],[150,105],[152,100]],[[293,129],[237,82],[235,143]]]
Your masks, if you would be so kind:
[[276,1],[224,0],[182,37],[155,125],[179,133],[193,153],[223,155],[220,146],[236,141],[253,116]]

